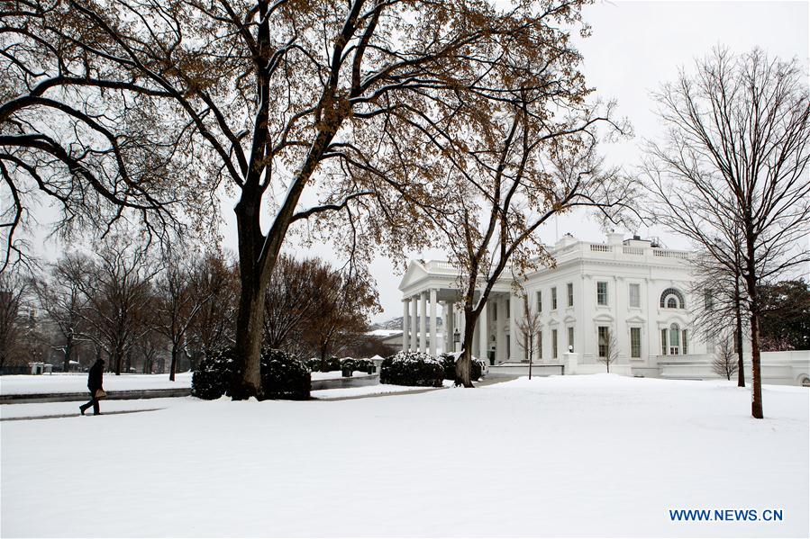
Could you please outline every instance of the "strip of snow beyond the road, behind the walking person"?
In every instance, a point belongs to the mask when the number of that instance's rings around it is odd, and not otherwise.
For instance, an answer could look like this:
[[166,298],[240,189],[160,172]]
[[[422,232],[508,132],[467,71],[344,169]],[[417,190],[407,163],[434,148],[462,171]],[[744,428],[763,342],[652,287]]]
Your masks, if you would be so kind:
[[[191,387],[191,373],[177,373],[175,382],[168,374],[122,374],[105,373],[106,391],[164,390]],[[81,393],[87,392],[87,373],[65,374],[20,374],[0,376],[0,395],[28,395],[31,393]]]

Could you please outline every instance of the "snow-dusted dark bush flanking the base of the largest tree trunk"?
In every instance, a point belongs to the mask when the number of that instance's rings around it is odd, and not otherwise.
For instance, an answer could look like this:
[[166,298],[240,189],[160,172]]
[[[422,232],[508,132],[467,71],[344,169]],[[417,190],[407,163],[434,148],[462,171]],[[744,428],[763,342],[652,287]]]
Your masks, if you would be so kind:
[[[235,350],[228,348],[200,362],[191,378],[191,394],[214,400],[227,394],[235,369]],[[307,400],[311,377],[306,364],[281,350],[262,350],[261,385],[266,399]]]

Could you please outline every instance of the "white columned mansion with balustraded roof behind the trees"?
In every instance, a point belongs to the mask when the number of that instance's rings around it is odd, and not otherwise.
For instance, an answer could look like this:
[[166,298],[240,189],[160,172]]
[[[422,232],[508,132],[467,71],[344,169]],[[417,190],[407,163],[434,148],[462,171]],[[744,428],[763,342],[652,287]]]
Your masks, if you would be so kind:
[[[693,339],[690,327],[690,305],[703,298],[688,292],[689,253],[617,233],[606,243],[566,235],[547,248],[556,267],[528,274],[523,283],[532,310],[541,315],[535,363],[563,364],[570,350],[578,364],[599,364],[609,333],[618,344],[616,363],[634,374],[656,375],[661,361],[705,355],[705,344]],[[518,330],[523,300],[515,295],[511,274],[504,274],[478,321],[472,350],[492,364],[526,359]],[[447,262],[411,262],[399,286],[404,349],[432,355],[460,350],[459,285],[458,269]],[[439,311],[447,320],[447,339],[436,334]],[[413,322],[417,319],[421,327]]]

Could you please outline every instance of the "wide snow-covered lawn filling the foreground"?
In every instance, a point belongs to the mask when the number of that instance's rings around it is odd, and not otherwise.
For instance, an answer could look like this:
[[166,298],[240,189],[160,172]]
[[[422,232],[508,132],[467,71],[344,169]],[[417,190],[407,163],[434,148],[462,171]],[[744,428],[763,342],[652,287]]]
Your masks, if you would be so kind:
[[810,392],[763,393],[760,421],[724,383],[613,375],[4,421],[0,535],[807,536]]

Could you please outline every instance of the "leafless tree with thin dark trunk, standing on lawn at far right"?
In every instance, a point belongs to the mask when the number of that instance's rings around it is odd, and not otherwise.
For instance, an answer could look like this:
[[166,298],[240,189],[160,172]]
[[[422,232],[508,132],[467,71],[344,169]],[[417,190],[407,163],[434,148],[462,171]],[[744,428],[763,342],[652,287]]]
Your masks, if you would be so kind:
[[[762,418],[760,286],[810,262],[810,93],[796,60],[717,49],[655,95],[667,139],[651,143],[651,211],[729,274],[751,326],[751,415]],[[733,245],[742,238],[740,256]]]

